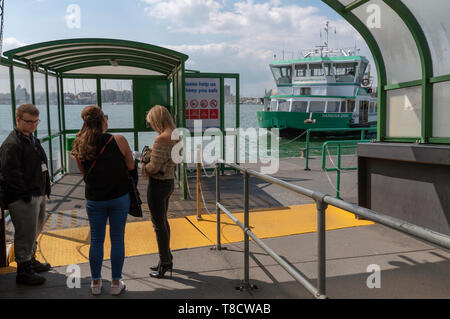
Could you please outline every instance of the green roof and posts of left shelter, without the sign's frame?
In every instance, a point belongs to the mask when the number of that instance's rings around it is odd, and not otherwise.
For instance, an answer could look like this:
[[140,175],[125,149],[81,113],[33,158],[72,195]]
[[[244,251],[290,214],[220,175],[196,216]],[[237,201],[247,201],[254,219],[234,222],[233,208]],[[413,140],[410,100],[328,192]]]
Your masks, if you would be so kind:
[[[126,40],[115,39],[67,39],[49,41],[4,52],[7,59],[2,58],[0,65],[9,67],[9,79],[11,85],[11,111],[12,122],[15,125],[15,81],[14,69],[21,68],[30,72],[31,103],[36,102],[35,81],[36,74],[45,76],[46,90],[46,117],[47,133],[39,136],[45,148],[48,143],[52,180],[56,175],[64,173],[67,168],[67,158],[63,151],[66,145],[66,136],[74,134],[78,130],[66,128],[65,105],[64,105],[64,79],[94,79],[96,81],[97,104],[102,107],[102,80],[131,80],[133,81],[133,100],[136,95],[141,94],[139,90],[134,90],[137,84],[157,82],[166,87],[163,96],[158,104],[167,105],[175,116],[182,112],[184,101],[184,72],[185,61],[188,56],[166,48]],[[100,69],[99,69],[100,67]],[[103,67],[103,68],[101,68]],[[105,68],[106,67],[106,68]],[[120,72],[115,74],[115,67],[119,67]],[[96,69],[97,68],[97,69]],[[105,73],[97,70],[107,70]],[[141,70],[136,72],[136,70]],[[80,72],[81,71],[81,72]],[[137,74],[136,74],[137,73]],[[50,98],[49,98],[49,77],[56,79],[57,86],[57,109],[58,127],[51,127]],[[172,85],[172,91],[170,87]],[[142,91],[142,90],[141,90]],[[172,99],[171,99],[172,98]],[[156,103],[155,103],[156,104]],[[146,105],[148,108],[151,104]],[[138,149],[138,133],[152,131],[145,126],[144,110],[134,112],[134,126],[109,129],[110,132],[130,132],[134,133],[134,145],[132,148]],[[141,112],[141,113],[138,113]],[[178,117],[176,117],[178,119]],[[177,125],[183,123],[177,121]],[[38,135],[38,133],[36,133]],[[59,139],[61,150],[61,167],[54,169],[52,141]]]

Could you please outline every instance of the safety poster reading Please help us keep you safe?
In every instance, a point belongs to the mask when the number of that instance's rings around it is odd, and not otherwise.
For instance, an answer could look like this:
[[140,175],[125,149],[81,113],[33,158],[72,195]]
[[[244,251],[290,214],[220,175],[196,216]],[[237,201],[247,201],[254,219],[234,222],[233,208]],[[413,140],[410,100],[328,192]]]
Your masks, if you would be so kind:
[[220,78],[186,78],[185,87],[186,128],[201,120],[202,131],[220,129]]

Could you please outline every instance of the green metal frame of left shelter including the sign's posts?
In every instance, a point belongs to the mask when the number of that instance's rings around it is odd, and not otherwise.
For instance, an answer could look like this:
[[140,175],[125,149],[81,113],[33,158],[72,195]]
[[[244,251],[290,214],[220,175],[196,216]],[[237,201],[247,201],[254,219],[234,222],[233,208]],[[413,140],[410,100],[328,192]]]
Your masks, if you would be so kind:
[[[115,39],[67,39],[49,41],[24,46],[4,53],[7,59],[1,58],[0,65],[9,68],[9,80],[11,91],[12,123],[15,125],[16,110],[16,83],[14,80],[17,68],[29,72],[29,87],[31,98],[29,102],[36,104],[37,93],[35,82],[37,74],[39,79],[45,78],[47,129],[45,133],[39,129],[35,134],[38,136],[44,148],[48,151],[51,178],[54,181],[58,174],[67,172],[68,161],[65,148],[70,144],[68,135],[73,135],[79,129],[68,126],[66,122],[66,109],[71,105],[65,105],[64,80],[73,79],[95,83],[95,89],[88,91],[96,94],[96,104],[103,107],[102,103],[102,81],[103,80],[130,80],[133,92],[133,127],[109,128],[111,133],[132,133],[134,135],[134,150],[139,149],[139,133],[150,132],[147,127],[145,114],[151,105],[161,104],[169,108],[174,116],[177,127],[186,127],[185,116],[185,80],[186,78],[218,78],[220,79],[220,114],[221,122],[219,129],[225,139],[225,99],[224,82],[226,79],[235,80],[236,88],[236,128],[239,127],[239,74],[235,73],[200,73],[198,71],[186,71],[185,62],[187,55],[166,48],[125,40]],[[118,71],[119,70],[119,71]],[[4,70],[3,70],[4,71]],[[21,74],[22,81],[24,74]],[[28,75],[25,77],[28,78]],[[56,81],[57,105],[51,105],[49,94],[49,78]],[[28,79],[26,79],[28,83]],[[67,83],[66,83],[67,84]],[[54,82],[52,83],[54,85]],[[28,84],[26,85],[28,86]],[[41,88],[40,97],[44,93],[43,83],[39,82]],[[52,92],[54,93],[54,92]],[[41,104],[42,104],[42,98]],[[23,99],[22,99],[23,101]],[[22,103],[22,102],[21,102]],[[55,101],[53,101],[55,104]],[[106,102],[105,102],[106,103]],[[42,105],[40,105],[42,106]],[[58,110],[57,127],[51,116],[52,110]],[[44,114],[43,114],[44,115]],[[54,144],[58,142],[58,145]],[[222,154],[225,154],[225,141],[222,140]],[[56,148],[60,150],[61,167],[53,168],[53,159],[56,156]],[[236,153],[236,152],[235,152]],[[55,156],[54,156],[55,155]],[[178,183],[184,189],[184,198],[187,193],[187,165],[182,163],[177,167],[176,175]]]

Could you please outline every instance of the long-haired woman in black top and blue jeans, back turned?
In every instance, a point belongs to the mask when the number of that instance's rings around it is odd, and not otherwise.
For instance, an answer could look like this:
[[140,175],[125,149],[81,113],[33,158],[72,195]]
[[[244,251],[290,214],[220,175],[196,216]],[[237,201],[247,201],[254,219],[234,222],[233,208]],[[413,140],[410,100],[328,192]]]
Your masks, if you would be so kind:
[[106,133],[108,116],[95,105],[81,112],[83,126],[72,147],[72,156],[84,175],[86,212],[91,229],[89,264],[91,291],[99,295],[102,289],[103,244],[109,219],[111,238],[111,269],[113,295],[125,290],[122,268],[125,259],[125,224],[130,209],[128,171],[137,175],[130,146],[122,135]]

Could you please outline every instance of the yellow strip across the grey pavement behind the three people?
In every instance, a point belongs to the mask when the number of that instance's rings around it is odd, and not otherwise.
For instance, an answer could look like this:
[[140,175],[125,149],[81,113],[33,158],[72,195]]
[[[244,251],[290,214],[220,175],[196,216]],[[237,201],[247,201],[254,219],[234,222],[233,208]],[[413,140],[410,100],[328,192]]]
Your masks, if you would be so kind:
[[[244,221],[243,213],[234,216]],[[204,214],[169,219],[173,250],[214,245],[216,241],[216,216]],[[326,214],[327,230],[371,225],[373,222],[355,219],[353,214],[329,206]],[[252,210],[250,227],[259,238],[271,238],[315,232],[317,230],[315,204],[297,205],[272,209]],[[199,231],[200,230],[200,231]],[[202,234],[203,233],[203,234]],[[205,237],[206,236],[206,237]],[[222,244],[244,239],[242,230],[228,216],[221,215]],[[64,266],[89,261],[89,227],[44,232],[38,239],[37,258],[52,266]],[[109,227],[105,238],[105,259],[110,258],[111,243]],[[125,231],[125,254],[127,257],[157,253],[156,237],[150,221],[128,223]],[[0,274],[15,271],[15,263],[0,268]]]

